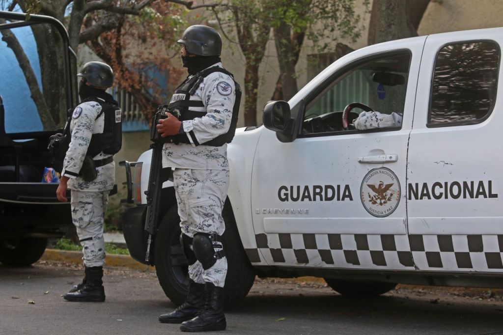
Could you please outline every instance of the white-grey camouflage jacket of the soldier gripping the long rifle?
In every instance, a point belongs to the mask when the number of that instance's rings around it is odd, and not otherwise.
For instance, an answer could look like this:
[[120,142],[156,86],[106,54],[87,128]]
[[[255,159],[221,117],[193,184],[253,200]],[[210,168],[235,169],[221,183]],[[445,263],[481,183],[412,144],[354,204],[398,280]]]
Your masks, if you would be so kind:
[[[222,63],[211,65],[222,67]],[[204,112],[201,118],[183,121],[183,129],[189,143],[165,143],[162,148],[162,166],[178,169],[229,170],[227,144],[222,146],[204,145],[204,142],[225,134],[230,127],[232,109],[236,100],[234,80],[222,72],[206,76],[190,100],[202,101],[204,107],[191,107],[191,110]],[[196,146],[189,132],[193,131],[201,145]]]

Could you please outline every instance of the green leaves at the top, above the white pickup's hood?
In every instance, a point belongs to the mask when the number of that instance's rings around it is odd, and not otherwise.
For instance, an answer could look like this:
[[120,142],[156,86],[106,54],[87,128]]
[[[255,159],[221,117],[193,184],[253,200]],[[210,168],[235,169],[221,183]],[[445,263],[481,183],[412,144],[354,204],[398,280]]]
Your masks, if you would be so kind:
[[[339,38],[356,42],[364,27],[355,7],[361,4],[368,13],[370,6],[370,0],[219,0],[218,3],[221,6],[215,14],[225,18],[219,20],[222,29],[237,30],[241,45],[255,43],[256,36],[265,30],[264,25],[275,29],[285,23],[292,33],[304,34],[318,52],[335,48],[334,41]],[[245,41],[239,36],[239,26],[246,26],[253,33],[241,35]]]

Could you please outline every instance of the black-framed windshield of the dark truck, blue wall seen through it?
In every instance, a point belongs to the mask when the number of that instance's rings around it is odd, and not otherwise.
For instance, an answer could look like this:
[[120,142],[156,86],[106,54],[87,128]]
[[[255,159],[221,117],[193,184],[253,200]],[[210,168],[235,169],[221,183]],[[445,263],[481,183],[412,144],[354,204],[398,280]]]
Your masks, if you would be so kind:
[[[0,18],[0,24],[4,23]],[[64,66],[67,51],[59,32],[51,24],[36,23],[0,29],[0,37],[0,96],[6,133],[63,128],[70,106]]]

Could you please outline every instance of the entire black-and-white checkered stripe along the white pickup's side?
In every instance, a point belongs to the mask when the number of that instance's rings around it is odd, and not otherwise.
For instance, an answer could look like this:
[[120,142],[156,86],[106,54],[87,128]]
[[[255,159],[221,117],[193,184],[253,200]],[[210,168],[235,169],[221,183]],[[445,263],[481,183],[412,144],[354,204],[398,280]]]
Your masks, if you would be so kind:
[[503,235],[257,234],[251,263],[503,272]]

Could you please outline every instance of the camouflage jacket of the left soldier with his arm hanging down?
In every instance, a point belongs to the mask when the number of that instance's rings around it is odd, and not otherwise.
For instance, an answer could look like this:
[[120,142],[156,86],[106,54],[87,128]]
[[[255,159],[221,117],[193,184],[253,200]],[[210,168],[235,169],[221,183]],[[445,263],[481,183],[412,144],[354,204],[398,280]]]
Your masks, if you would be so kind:
[[[100,98],[98,98],[100,99]],[[105,114],[100,115],[102,107],[97,102],[85,102],[74,110],[70,122],[71,141],[63,161],[61,176],[70,178],[68,189],[79,191],[106,191],[111,190],[115,183],[115,163],[111,162],[97,167],[98,178],[92,182],[85,182],[78,173],[91,142],[93,134],[103,133]],[[100,152],[93,159],[103,159],[112,156]]]

